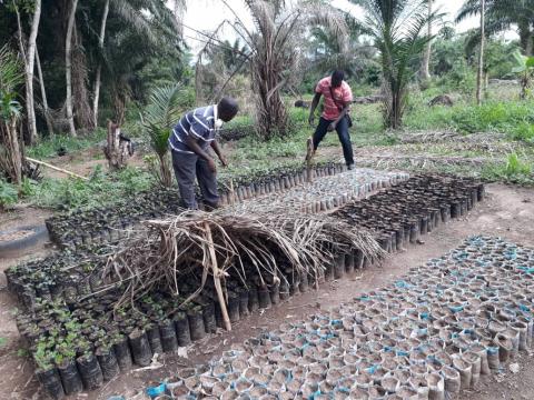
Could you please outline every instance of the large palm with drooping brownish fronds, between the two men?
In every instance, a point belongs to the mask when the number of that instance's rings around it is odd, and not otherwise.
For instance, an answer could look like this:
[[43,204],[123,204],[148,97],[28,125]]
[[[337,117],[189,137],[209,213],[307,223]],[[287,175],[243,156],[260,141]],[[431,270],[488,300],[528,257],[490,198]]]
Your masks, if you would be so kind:
[[347,32],[343,14],[323,1],[298,1],[289,8],[284,0],[245,0],[254,21],[251,30],[227,0],[222,2],[236,17],[231,27],[250,49],[248,66],[258,134],[264,139],[285,134],[288,119],[281,90],[298,71],[304,53],[301,43],[316,26],[328,28],[343,42]]

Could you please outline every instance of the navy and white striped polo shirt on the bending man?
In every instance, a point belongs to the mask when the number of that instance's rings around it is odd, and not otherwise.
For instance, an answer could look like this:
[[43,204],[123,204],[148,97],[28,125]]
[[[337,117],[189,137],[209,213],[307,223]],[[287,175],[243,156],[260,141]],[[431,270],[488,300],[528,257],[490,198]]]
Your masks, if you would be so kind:
[[198,146],[202,150],[208,149],[210,143],[215,140],[217,129],[215,122],[217,121],[217,104],[200,107],[189,111],[180,121],[172,128],[169,137],[169,146],[172,151],[194,153],[186,144],[187,137],[191,136],[197,140]]

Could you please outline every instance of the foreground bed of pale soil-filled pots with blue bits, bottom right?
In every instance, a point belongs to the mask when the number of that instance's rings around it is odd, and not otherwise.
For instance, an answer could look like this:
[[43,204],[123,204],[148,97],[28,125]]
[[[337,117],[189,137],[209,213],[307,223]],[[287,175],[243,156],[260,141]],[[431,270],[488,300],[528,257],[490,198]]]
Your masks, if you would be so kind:
[[167,380],[176,399],[444,400],[533,336],[534,250],[475,237],[392,284]]

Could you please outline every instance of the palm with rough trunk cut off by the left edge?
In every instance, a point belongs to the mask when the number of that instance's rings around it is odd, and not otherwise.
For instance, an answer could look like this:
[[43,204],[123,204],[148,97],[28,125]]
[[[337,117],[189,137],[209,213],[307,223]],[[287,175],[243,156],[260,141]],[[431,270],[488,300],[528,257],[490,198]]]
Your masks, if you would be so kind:
[[23,82],[22,66],[7,46],[0,48],[0,170],[16,184],[22,181],[21,107],[16,89]]

